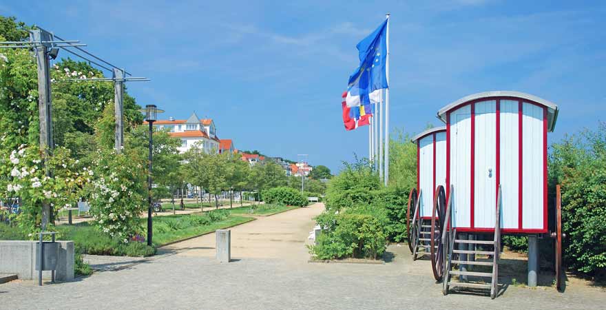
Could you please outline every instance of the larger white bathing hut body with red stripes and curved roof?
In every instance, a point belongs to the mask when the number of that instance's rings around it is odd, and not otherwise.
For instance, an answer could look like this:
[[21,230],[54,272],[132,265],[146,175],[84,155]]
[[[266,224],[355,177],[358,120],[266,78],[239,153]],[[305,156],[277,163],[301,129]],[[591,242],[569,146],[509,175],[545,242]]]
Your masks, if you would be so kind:
[[557,114],[554,103],[504,91],[466,96],[438,112],[446,123],[454,227],[494,229],[501,184],[503,231],[547,232],[547,132]]

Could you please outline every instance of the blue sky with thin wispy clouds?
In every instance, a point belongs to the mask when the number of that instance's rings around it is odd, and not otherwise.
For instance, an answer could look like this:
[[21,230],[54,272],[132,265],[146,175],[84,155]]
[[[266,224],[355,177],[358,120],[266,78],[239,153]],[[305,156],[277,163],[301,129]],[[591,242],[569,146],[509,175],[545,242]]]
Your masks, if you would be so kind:
[[151,79],[129,94],[165,118],[195,111],[238,149],[309,154],[333,172],[368,156],[368,129],[344,130],[340,96],[355,45],[386,13],[392,133],[441,125],[439,108],[490,90],[556,103],[550,143],[605,120],[605,1],[0,2],[1,15]]

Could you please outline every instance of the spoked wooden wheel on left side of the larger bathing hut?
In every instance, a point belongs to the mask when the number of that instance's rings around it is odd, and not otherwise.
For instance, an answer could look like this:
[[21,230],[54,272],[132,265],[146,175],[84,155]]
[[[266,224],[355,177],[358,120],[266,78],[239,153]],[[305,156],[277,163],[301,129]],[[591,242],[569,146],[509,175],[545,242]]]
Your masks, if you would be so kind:
[[434,278],[439,281],[442,280],[444,273],[444,255],[446,253],[441,239],[441,233],[445,229],[443,220],[446,216],[446,192],[442,185],[437,187],[433,201],[430,234],[431,269]]

